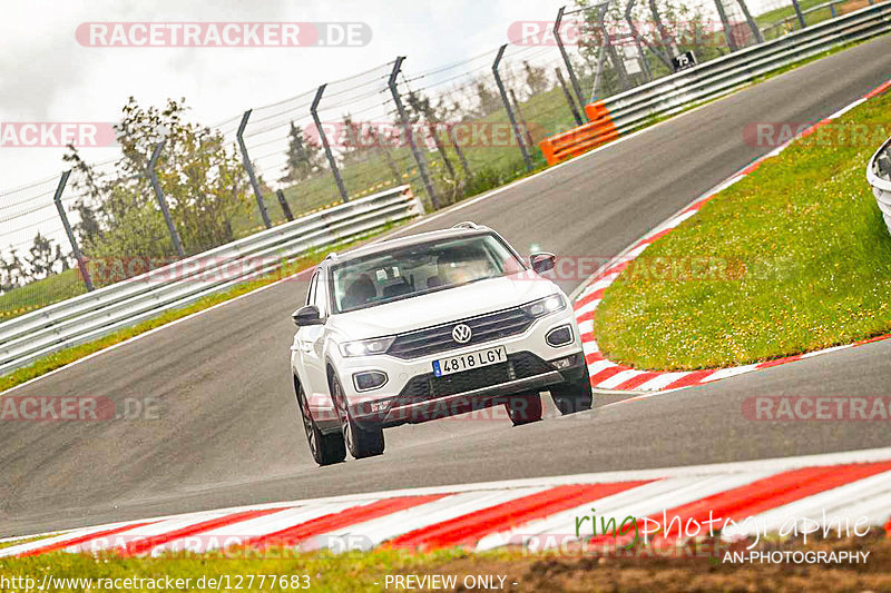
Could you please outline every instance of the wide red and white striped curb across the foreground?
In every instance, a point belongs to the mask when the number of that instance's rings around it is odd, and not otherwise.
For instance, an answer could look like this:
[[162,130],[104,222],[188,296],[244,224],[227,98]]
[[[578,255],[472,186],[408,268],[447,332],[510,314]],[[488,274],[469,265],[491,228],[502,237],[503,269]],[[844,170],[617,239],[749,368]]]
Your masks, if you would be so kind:
[[242,506],[71,530],[0,548],[0,557],[58,551],[157,556],[272,545],[335,552],[381,545],[529,548],[532,541],[586,540],[584,532],[576,535],[576,523],[591,508],[617,523],[635,517],[642,533],[653,525],[645,521],[677,517],[687,530],[682,538],[694,535],[691,524],[713,518],[736,522],[735,536],[791,533],[794,525],[803,531],[809,522],[834,525],[836,518],[859,525],[863,535],[891,514],[891,448]]

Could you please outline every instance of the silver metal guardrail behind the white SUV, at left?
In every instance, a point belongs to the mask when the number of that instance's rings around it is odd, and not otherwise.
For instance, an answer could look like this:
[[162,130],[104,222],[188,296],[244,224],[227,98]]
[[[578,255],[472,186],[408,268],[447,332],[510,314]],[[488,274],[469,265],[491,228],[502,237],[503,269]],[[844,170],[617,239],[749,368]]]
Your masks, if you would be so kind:
[[349,201],[0,324],[0,375],[424,211],[410,186]]

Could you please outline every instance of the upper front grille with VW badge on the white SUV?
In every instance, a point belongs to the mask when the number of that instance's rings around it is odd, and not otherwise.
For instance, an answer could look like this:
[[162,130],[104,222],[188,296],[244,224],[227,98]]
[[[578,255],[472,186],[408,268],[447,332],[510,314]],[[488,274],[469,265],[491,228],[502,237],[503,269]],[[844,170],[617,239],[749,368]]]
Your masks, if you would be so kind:
[[[532,325],[532,318],[519,307],[505,309],[489,315],[481,315],[470,319],[451,322],[428,329],[419,329],[400,334],[386,354],[399,358],[418,358],[440,352],[462,348],[473,344],[482,344],[516,334],[522,334]],[[458,324],[470,326],[473,332],[470,342],[458,344],[452,339],[452,328]]]

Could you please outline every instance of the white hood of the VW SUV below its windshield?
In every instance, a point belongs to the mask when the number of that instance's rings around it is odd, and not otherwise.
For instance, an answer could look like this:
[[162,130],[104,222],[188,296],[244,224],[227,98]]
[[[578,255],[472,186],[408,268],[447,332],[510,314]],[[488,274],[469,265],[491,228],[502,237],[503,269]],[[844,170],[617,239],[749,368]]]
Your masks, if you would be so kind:
[[521,273],[332,315],[329,324],[349,339],[389,336],[516,307],[557,291],[550,280]]

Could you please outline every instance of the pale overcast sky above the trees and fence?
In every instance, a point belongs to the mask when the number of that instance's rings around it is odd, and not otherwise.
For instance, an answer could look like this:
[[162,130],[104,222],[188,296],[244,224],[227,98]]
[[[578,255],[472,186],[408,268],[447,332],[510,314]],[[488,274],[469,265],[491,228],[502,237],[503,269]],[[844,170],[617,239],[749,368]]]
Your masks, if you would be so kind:
[[[141,105],[185,97],[192,117],[213,123],[248,107],[408,56],[421,71],[495,50],[518,20],[552,20],[572,0],[261,0],[3,2],[0,121],[116,121],[129,96]],[[362,48],[91,48],[84,22],[360,21]],[[0,190],[57,176],[61,149],[0,147]],[[85,151],[88,160],[115,149]]]

